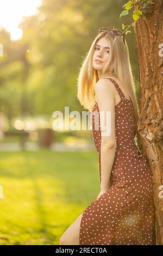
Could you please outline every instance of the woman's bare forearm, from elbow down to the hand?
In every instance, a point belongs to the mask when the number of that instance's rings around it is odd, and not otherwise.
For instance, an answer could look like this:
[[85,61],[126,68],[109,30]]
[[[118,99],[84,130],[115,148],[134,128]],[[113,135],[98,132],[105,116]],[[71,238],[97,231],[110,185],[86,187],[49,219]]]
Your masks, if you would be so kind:
[[115,159],[116,142],[101,142],[101,191],[109,190],[109,180]]

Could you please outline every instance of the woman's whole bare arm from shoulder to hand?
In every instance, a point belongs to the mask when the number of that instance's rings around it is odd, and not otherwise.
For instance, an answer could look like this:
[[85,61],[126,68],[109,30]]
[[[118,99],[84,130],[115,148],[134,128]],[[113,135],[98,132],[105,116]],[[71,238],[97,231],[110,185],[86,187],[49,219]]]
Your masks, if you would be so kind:
[[[116,151],[115,90],[109,80],[101,78],[95,84],[95,94],[101,124],[101,191],[109,189],[109,180]],[[103,132],[102,124],[106,127]]]

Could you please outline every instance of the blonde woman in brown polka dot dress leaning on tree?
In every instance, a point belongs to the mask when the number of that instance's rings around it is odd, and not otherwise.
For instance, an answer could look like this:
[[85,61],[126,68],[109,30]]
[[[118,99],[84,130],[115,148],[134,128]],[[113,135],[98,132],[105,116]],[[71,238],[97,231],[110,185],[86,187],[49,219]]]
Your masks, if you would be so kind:
[[134,143],[139,112],[122,32],[99,29],[79,72],[78,99],[91,111],[101,191],[60,245],[155,245],[152,172]]

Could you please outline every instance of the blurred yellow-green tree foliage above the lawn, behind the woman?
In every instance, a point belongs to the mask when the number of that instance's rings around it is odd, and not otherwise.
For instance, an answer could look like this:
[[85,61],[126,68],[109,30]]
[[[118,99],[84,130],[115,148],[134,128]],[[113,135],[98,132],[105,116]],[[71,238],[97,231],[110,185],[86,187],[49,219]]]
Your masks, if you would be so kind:
[[[0,110],[8,117],[41,114],[55,110],[82,111],[77,100],[77,76],[83,57],[99,27],[121,28],[119,13],[126,1],[42,0],[36,15],[24,17],[23,36],[11,41],[4,30],[0,41]],[[124,17],[126,23],[130,17]],[[138,77],[135,39],[127,36],[131,64]],[[139,93],[139,92],[138,92]],[[12,95],[14,95],[12,97]]]

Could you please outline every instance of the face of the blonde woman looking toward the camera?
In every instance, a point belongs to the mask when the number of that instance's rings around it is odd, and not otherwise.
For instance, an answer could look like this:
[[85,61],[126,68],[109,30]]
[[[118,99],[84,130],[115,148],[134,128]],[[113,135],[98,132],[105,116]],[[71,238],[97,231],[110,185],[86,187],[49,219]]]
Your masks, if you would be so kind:
[[[101,71],[103,68],[103,65],[109,58],[109,53],[110,53],[110,45],[108,40],[106,40],[104,37],[100,38],[95,45],[95,50],[93,53],[93,60],[92,60],[93,68],[98,71]],[[100,62],[98,62],[97,60],[100,60]]]

